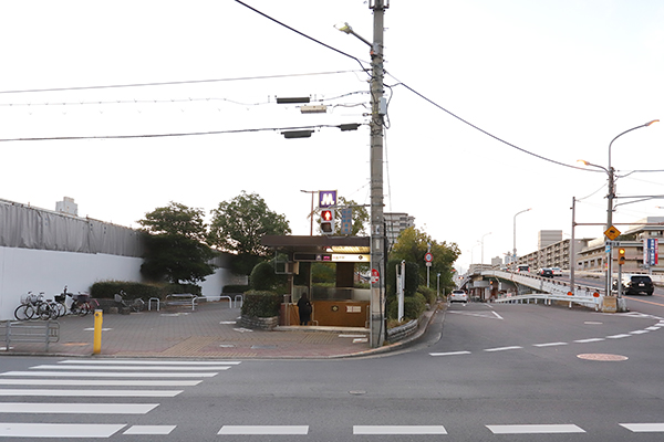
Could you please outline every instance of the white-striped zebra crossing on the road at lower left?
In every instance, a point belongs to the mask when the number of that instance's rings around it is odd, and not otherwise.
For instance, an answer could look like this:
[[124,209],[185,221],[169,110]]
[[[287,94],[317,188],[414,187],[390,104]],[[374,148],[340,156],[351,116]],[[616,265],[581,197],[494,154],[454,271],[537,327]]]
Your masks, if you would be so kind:
[[[97,439],[111,438],[116,433],[167,435],[176,425],[48,421],[56,420],[55,417],[61,414],[147,414],[159,407],[160,402],[156,400],[175,398],[184,388],[198,386],[239,364],[80,359],[37,365],[23,371],[0,372],[0,439]],[[42,401],[17,401],[20,398],[39,398]],[[94,402],[71,402],[71,398],[94,398]],[[123,402],[116,402],[123,399]],[[142,399],[147,402],[139,402]],[[2,417],[7,414],[30,417],[33,422],[6,422]]]

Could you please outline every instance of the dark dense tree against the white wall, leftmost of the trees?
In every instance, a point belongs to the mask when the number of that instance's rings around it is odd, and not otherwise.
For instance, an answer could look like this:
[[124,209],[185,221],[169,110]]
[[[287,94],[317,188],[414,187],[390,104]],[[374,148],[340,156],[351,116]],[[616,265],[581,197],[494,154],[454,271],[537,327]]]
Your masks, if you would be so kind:
[[215,252],[204,242],[207,225],[201,209],[170,204],[146,213],[139,220],[147,233],[141,273],[151,280],[179,284],[197,283],[215,272],[209,261]]

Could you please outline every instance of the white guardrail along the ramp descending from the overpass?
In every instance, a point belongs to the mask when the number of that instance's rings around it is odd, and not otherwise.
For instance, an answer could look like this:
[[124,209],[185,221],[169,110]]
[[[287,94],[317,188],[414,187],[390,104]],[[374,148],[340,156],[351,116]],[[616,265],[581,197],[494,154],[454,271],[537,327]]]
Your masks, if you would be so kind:
[[533,299],[537,303],[538,299],[542,299],[544,304],[550,305],[552,301],[562,301],[569,302],[570,307],[572,306],[572,303],[574,303],[585,307],[594,308],[595,311],[599,311],[602,305],[601,291],[596,287],[574,284],[574,290],[572,291],[570,283],[567,281],[496,270],[485,270],[481,272],[481,275],[495,276],[505,281],[512,281],[515,283],[542,292],[501,296],[497,299],[494,299],[495,303],[529,303],[530,299]]

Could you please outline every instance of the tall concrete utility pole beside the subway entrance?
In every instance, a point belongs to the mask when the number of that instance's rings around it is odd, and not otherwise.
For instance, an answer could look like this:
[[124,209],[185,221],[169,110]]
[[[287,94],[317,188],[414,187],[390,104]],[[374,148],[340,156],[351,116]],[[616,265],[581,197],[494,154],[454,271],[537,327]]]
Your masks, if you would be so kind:
[[385,222],[383,219],[383,19],[390,0],[370,0],[374,13],[371,50],[371,266],[378,277],[371,284],[371,346],[381,347],[385,336]]

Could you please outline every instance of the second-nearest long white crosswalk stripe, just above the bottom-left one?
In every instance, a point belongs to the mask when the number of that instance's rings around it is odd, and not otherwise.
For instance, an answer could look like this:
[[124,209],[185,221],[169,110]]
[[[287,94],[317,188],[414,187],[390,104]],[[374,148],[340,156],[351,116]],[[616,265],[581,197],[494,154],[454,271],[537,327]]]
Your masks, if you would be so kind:
[[0,413],[146,414],[158,403],[48,403],[0,402]]

